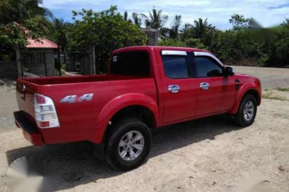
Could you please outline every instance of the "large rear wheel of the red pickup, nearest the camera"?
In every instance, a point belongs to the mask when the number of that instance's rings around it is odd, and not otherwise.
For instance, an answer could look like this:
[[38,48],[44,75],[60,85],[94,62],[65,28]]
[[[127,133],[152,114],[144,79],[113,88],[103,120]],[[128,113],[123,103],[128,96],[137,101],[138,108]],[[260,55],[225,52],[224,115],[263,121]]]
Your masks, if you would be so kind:
[[125,118],[109,130],[105,160],[118,170],[131,170],[146,160],[151,146],[152,134],[146,123],[136,118]]

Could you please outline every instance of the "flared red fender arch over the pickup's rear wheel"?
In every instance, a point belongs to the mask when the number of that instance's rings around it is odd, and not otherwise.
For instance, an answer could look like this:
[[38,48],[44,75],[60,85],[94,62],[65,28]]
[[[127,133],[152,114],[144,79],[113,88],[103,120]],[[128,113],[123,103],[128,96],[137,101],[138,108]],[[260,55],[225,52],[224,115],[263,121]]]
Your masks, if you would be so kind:
[[110,119],[121,109],[134,105],[147,107],[154,114],[155,122],[157,123],[158,107],[156,101],[153,101],[148,95],[141,93],[123,94],[103,107],[96,119],[90,141],[93,143],[101,143]]

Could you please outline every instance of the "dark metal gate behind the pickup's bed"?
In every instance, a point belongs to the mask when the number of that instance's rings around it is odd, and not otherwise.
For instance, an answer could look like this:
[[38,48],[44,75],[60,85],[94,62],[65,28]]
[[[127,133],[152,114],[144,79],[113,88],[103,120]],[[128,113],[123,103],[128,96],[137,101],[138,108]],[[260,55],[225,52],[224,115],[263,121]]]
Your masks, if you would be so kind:
[[61,52],[61,49],[20,49],[23,77],[95,74],[94,48],[86,52]]

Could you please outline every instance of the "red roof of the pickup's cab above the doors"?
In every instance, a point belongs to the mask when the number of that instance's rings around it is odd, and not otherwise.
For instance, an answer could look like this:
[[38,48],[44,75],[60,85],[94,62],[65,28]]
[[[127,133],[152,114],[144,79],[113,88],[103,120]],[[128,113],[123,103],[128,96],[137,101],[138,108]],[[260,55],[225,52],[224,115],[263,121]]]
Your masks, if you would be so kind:
[[187,51],[187,52],[207,52],[206,50],[200,50],[190,47],[176,47],[176,46],[128,46],[121,49],[115,50],[113,54],[120,52],[131,52],[136,50],[178,50],[178,51]]

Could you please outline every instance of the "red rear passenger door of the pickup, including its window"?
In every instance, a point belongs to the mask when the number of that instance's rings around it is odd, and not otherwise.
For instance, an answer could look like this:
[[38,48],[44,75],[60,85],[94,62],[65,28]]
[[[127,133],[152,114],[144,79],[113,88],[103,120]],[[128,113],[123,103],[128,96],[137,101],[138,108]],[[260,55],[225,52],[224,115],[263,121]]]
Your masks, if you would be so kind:
[[161,51],[159,61],[163,84],[163,122],[194,117],[196,114],[196,80],[191,77],[186,51]]

